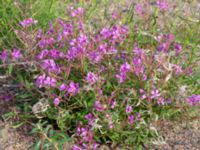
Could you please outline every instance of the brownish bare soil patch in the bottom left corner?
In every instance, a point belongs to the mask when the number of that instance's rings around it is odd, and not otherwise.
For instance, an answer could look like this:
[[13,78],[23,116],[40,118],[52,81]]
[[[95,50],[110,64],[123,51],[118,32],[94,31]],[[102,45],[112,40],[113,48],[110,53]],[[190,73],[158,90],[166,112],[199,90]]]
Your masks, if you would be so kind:
[[30,128],[23,126],[13,128],[18,118],[3,119],[6,112],[17,112],[12,102],[0,100],[0,150],[27,150],[34,143],[34,137],[29,135]]

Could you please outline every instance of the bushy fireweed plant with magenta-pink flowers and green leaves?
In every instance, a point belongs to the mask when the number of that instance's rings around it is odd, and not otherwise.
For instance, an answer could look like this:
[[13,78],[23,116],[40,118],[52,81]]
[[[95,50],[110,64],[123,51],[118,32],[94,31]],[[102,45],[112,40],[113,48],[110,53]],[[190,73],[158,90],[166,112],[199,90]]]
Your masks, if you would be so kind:
[[[157,6],[168,8],[165,1]],[[135,9],[143,13],[139,4]],[[151,134],[146,131],[155,109],[174,107],[177,93],[171,85],[192,74],[182,65],[181,44],[166,33],[157,35],[152,46],[139,45],[130,36],[134,31],[120,24],[90,33],[83,8],[69,7],[68,13],[69,19],[50,22],[48,31],[37,30],[31,50],[2,50],[1,66],[35,68],[26,71],[37,98],[49,102],[43,116],[73,137],[73,150],[97,149],[102,143],[137,148]],[[20,25],[26,33],[37,23],[28,18]],[[198,105],[200,95],[184,101]]]

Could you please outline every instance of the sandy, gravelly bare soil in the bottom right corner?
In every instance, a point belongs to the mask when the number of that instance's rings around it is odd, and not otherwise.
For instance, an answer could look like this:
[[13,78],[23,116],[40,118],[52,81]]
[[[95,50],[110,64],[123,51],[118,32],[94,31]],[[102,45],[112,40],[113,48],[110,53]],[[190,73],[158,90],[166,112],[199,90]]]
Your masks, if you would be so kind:
[[153,142],[153,150],[200,150],[200,118],[162,122],[157,128],[161,137]]

